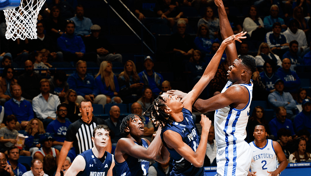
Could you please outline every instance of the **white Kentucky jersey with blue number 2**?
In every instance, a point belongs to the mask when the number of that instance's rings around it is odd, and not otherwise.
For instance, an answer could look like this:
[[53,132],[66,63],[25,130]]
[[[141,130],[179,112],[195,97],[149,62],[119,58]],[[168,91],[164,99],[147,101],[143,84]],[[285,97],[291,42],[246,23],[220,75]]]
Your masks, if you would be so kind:
[[267,144],[263,148],[257,147],[254,142],[250,142],[252,152],[251,171],[258,176],[268,176],[269,172],[277,169],[276,153],[273,149],[272,140],[267,139]]

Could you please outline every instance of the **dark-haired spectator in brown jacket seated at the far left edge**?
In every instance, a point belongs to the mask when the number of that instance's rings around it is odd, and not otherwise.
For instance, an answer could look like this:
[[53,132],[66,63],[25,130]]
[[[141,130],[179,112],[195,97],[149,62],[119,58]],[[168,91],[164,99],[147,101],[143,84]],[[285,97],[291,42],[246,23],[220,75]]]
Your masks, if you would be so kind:
[[13,76],[13,67],[11,65],[6,66],[0,77],[0,98],[3,103],[12,98],[10,86],[17,83],[17,80]]

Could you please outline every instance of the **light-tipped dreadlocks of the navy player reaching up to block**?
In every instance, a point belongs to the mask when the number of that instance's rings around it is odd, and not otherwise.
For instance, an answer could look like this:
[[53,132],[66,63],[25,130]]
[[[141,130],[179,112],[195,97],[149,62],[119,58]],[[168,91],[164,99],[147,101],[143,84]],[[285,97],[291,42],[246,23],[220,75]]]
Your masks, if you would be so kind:
[[[161,128],[163,128],[165,125],[171,125],[173,123],[173,121],[169,118],[170,115],[165,113],[166,107],[165,100],[161,95],[159,95],[146,110],[146,112],[150,113],[150,119],[156,127],[161,126]],[[145,115],[146,112],[142,115]]]

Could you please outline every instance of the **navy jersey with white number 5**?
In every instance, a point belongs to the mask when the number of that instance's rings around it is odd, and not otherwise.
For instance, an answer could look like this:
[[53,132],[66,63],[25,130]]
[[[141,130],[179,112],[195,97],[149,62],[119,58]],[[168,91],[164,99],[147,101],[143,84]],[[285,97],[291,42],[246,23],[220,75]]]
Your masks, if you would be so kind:
[[[135,142],[135,144],[139,145],[137,142]],[[142,146],[148,148],[149,145],[145,140],[142,139]],[[114,163],[117,176],[148,175],[149,161],[137,159],[129,155],[128,158],[122,163],[118,163],[117,160],[114,158]]]

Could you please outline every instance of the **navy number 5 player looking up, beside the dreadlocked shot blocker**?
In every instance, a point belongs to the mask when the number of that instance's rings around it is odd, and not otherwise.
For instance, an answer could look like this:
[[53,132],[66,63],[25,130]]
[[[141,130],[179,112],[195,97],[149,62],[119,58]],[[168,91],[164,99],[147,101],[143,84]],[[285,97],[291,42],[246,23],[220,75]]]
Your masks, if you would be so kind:
[[169,152],[162,146],[160,127],[150,143],[149,140],[142,138],[144,135],[142,117],[130,114],[123,118],[120,131],[126,137],[118,140],[114,150],[117,176],[145,176],[148,175],[149,161],[165,163],[168,160]]

